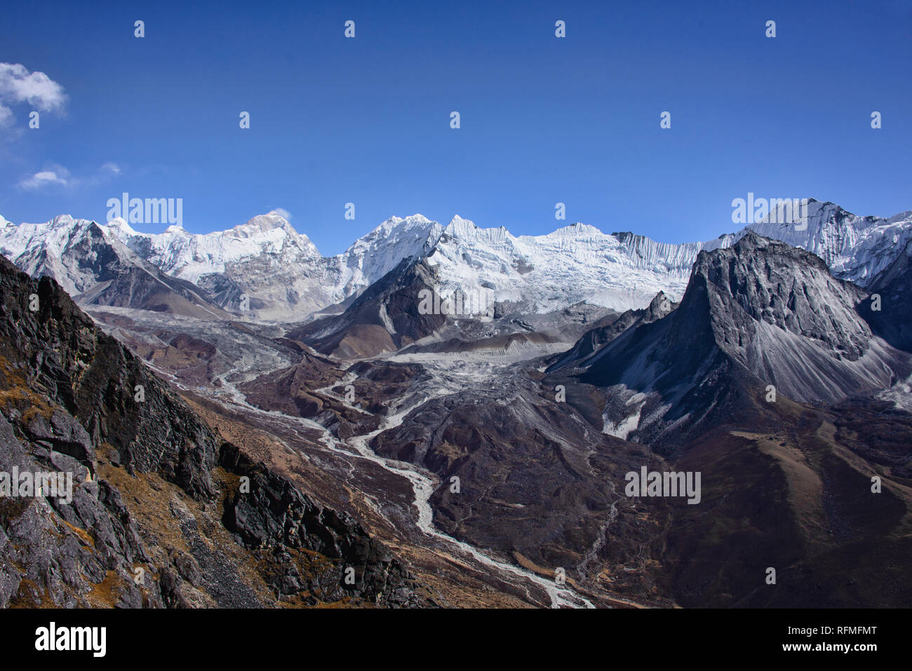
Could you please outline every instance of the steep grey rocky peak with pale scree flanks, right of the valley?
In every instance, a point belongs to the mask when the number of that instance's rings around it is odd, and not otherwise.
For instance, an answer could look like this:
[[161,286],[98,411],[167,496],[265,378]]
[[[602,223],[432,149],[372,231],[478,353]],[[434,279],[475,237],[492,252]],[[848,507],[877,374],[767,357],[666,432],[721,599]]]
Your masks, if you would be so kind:
[[864,297],[814,254],[749,232],[730,249],[700,253],[679,308],[618,336],[581,379],[617,392],[606,418],[635,408],[637,430],[653,438],[724,407],[736,387],[772,385],[824,403],[889,387],[908,357],[857,315]]

